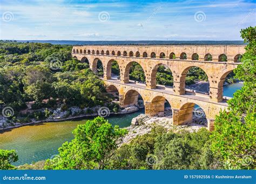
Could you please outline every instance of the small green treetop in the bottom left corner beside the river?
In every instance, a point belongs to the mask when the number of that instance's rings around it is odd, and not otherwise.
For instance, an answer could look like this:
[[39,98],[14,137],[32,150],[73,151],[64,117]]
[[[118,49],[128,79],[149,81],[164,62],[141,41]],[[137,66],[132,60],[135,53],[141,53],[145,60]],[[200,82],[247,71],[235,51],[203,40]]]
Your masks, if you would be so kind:
[[0,169],[15,169],[11,162],[18,161],[18,155],[15,150],[0,150]]

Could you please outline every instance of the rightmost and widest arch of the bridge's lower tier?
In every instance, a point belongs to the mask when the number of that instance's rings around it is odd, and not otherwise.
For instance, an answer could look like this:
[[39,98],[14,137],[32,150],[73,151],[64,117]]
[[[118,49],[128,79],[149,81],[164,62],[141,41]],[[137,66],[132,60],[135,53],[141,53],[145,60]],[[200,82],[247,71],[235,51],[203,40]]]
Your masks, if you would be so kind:
[[[207,112],[204,107],[199,105],[195,108],[195,103],[186,102],[181,105],[180,109],[173,109],[173,125],[184,125],[190,123],[207,124]],[[204,119],[204,121],[203,121]]]

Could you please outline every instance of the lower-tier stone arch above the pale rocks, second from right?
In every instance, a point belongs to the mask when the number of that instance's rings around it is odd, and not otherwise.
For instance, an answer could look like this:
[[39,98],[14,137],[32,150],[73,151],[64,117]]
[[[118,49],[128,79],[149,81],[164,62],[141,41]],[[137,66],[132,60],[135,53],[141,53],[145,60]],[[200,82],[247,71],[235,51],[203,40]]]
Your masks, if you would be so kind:
[[[150,103],[146,103],[146,114],[149,116],[159,115],[165,116],[165,102],[169,103],[163,96],[155,96]],[[169,103],[170,104],[170,103]],[[171,105],[170,105],[171,107]],[[170,108],[171,110],[171,108]],[[171,115],[171,113],[170,113]],[[169,116],[170,116],[169,115]],[[167,115],[168,116],[168,115]]]

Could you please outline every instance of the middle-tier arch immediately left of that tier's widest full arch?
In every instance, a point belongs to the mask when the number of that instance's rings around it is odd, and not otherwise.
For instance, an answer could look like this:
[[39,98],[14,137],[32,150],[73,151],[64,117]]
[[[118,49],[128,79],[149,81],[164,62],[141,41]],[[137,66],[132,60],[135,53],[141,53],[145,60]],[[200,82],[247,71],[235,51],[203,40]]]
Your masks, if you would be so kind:
[[[163,66],[164,68],[160,68],[161,66]],[[159,68],[163,71],[159,71]],[[167,72],[167,70],[170,70],[170,72]],[[163,76],[159,76],[159,77],[163,77],[165,79],[165,81],[162,81],[164,83],[159,83],[157,80],[157,72],[161,72],[161,74]],[[166,74],[166,75],[165,75]],[[171,75],[172,77],[172,81],[168,81],[168,77],[167,75]],[[157,84],[161,84],[161,85],[165,85],[165,86],[173,86],[173,76],[172,76],[172,71],[171,69],[164,65],[163,63],[158,63],[157,65],[155,65],[152,70],[151,70],[151,77],[150,77],[151,81],[150,81],[150,88],[151,89],[155,89]]]

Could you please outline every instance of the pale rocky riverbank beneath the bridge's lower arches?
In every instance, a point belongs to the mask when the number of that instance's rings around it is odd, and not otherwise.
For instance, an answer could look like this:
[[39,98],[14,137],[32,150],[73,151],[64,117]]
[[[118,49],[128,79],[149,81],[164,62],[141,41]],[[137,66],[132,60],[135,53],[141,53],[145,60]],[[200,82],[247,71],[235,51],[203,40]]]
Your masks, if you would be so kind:
[[186,130],[189,132],[198,131],[201,128],[207,128],[207,124],[205,121],[194,121],[197,123],[191,123],[188,125],[173,125],[172,115],[169,112],[169,116],[165,117],[149,117],[148,115],[141,114],[132,119],[132,124],[128,128],[128,134],[124,137],[122,144],[130,143],[130,141],[137,136],[142,136],[146,133],[150,133],[151,130],[156,126],[163,126],[167,131],[178,132],[180,130]]

